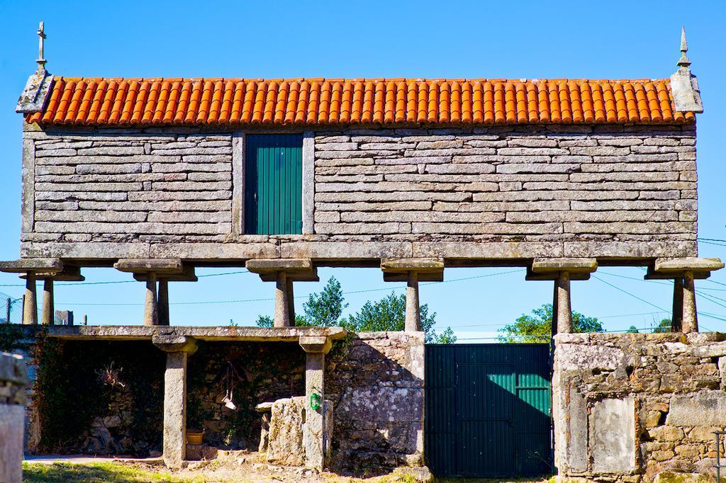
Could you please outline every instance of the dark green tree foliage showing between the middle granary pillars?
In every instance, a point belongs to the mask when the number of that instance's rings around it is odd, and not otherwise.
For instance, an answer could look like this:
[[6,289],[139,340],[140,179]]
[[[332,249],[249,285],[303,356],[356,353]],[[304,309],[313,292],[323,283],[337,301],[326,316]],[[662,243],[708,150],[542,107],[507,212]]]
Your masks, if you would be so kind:
[[[330,277],[321,292],[314,292],[303,304],[303,314],[295,315],[296,326],[332,327],[343,326],[354,332],[368,331],[402,331],[406,323],[406,295],[393,292],[383,299],[367,301],[361,309],[348,318],[343,318],[343,310],[348,303],[343,296],[343,289],[335,277]],[[436,334],[436,313],[429,313],[428,305],[420,306],[421,329],[425,332],[425,340],[434,344],[453,344],[456,336],[451,327],[441,334]],[[269,315],[259,315],[257,325],[272,327],[273,319]]]

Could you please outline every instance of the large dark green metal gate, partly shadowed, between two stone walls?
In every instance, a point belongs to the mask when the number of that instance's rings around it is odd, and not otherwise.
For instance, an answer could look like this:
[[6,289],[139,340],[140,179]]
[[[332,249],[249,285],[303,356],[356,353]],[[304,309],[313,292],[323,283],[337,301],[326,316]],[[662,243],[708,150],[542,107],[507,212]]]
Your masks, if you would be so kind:
[[425,349],[425,454],[436,476],[537,476],[552,468],[549,344]]

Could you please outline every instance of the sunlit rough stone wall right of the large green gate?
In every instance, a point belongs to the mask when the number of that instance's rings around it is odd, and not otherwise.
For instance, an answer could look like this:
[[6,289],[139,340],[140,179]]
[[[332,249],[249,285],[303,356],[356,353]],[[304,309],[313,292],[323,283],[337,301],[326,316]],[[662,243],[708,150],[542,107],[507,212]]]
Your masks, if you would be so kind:
[[560,334],[552,392],[562,481],[711,481],[726,335]]

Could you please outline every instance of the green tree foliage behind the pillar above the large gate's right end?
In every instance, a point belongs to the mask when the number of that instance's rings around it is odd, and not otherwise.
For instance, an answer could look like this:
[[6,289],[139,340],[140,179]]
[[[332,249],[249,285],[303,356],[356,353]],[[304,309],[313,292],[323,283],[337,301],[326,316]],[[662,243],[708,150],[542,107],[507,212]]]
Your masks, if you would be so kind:
[[[533,315],[522,314],[515,323],[499,329],[499,342],[550,342],[552,338],[552,304],[544,304],[532,310]],[[572,329],[575,332],[602,332],[603,324],[595,317],[572,312]]]

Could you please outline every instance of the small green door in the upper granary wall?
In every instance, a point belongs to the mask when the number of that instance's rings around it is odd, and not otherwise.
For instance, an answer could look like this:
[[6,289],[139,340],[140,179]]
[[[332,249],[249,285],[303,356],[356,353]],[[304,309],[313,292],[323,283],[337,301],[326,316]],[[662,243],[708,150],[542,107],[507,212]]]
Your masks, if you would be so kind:
[[245,136],[245,233],[303,232],[303,136]]

